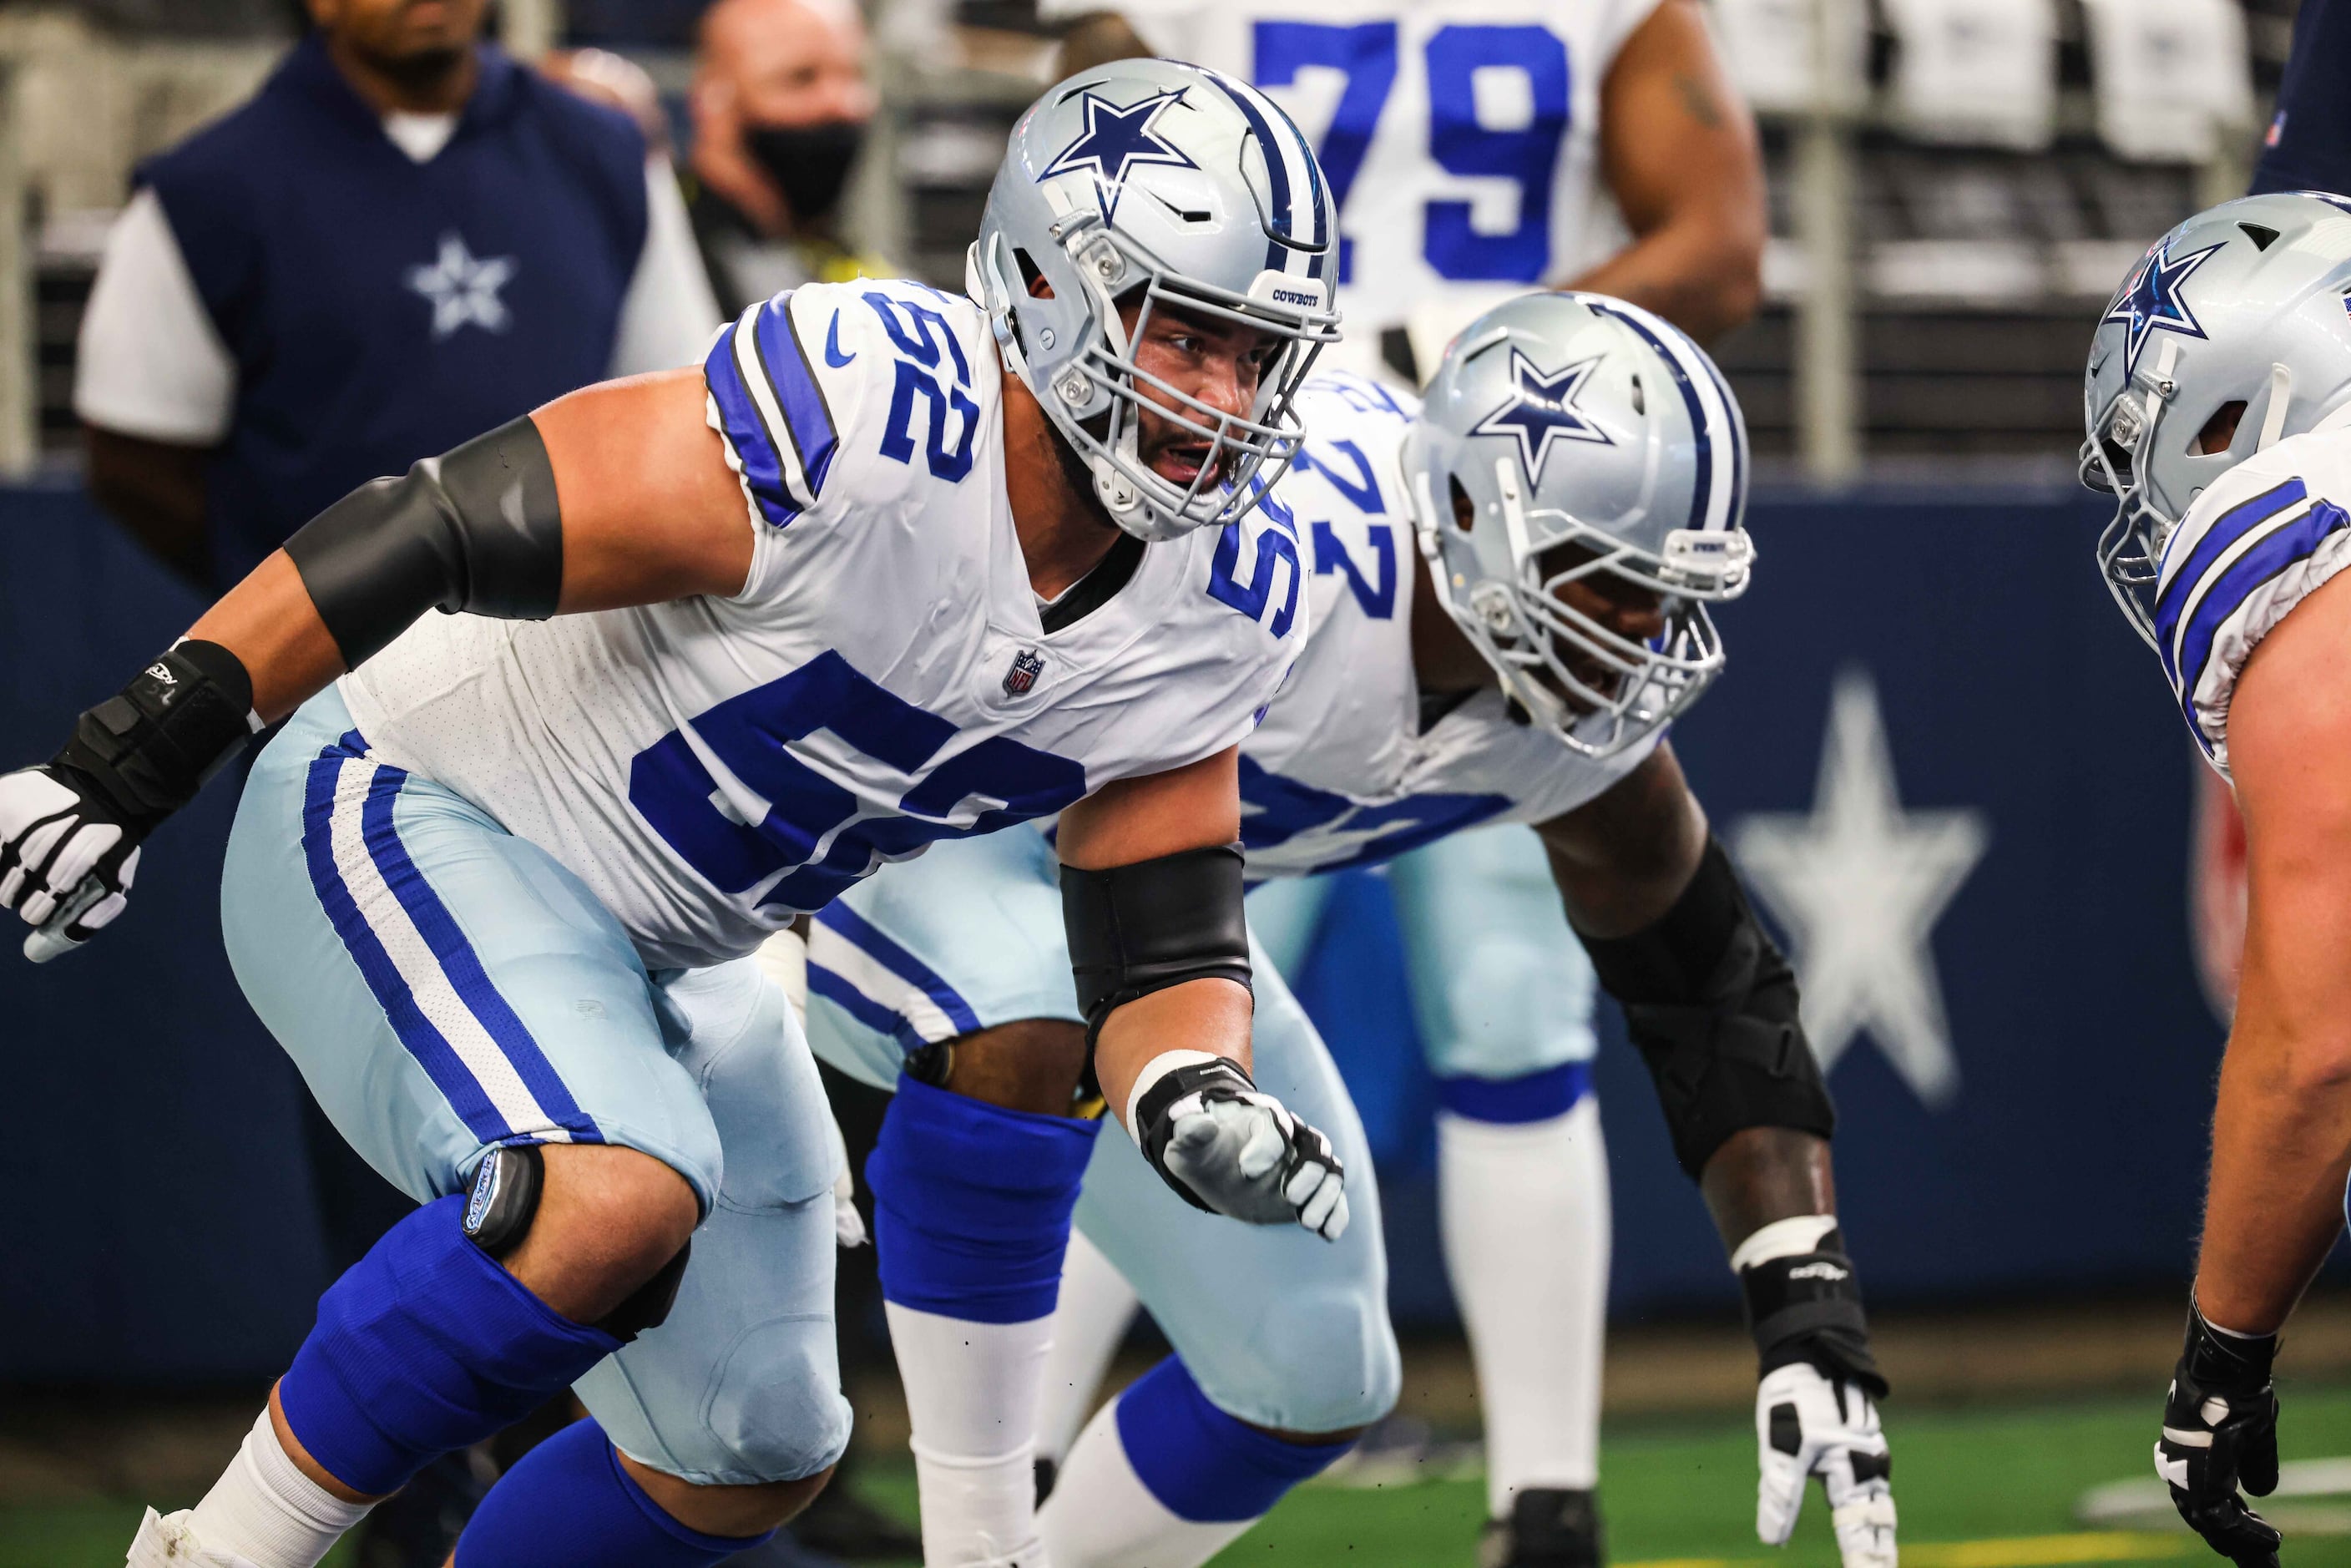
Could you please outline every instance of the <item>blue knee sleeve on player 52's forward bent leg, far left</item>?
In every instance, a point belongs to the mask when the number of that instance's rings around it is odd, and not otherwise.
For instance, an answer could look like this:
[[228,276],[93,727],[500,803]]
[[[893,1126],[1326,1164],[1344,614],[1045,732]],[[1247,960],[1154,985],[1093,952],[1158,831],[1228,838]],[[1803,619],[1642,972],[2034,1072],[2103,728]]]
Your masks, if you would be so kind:
[[301,1446],[362,1493],[513,1427],[621,1347],[522,1288],[465,1239],[465,1197],[383,1232],[317,1300],[277,1401]]

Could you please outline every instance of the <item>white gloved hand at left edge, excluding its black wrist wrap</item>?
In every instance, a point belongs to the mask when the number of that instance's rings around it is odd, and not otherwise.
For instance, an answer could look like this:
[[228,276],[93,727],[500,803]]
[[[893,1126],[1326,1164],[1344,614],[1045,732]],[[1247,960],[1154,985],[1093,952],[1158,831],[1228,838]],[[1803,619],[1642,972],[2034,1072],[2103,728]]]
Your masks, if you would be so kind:
[[139,875],[129,830],[73,778],[47,766],[0,773],[0,910],[38,926],[24,940],[35,964],[122,914]]

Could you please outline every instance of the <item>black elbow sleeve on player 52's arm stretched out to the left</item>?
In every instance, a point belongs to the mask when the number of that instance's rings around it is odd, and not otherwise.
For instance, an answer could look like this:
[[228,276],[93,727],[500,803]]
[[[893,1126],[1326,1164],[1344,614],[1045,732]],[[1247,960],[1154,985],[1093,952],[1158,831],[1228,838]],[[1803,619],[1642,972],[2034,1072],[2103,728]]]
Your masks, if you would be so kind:
[[555,470],[529,416],[362,484],[284,548],[346,670],[428,609],[545,621],[564,588]]

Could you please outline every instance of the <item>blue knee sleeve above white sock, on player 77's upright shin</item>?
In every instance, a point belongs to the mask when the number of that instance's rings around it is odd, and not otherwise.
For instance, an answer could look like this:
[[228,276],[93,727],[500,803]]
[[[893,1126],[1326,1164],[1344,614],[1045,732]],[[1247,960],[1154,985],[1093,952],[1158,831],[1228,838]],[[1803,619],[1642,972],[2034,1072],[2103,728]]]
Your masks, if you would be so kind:
[[1098,1131],[898,1079],[865,1161],[882,1295],[969,1324],[1051,1316]]

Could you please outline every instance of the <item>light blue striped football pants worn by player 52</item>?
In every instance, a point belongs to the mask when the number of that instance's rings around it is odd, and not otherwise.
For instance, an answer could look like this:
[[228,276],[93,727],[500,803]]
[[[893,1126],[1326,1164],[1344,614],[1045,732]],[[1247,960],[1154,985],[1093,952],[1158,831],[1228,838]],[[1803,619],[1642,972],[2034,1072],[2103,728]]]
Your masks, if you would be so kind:
[[750,961],[649,976],[536,844],[376,762],[329,689],[254,764],[221,926],[327,1117],[430,1201],[503,1143],[616,1143],[694,1185],[677,1305],[576,1385],[614,1443],[698,1483],[839,1460],[823,1086]]

